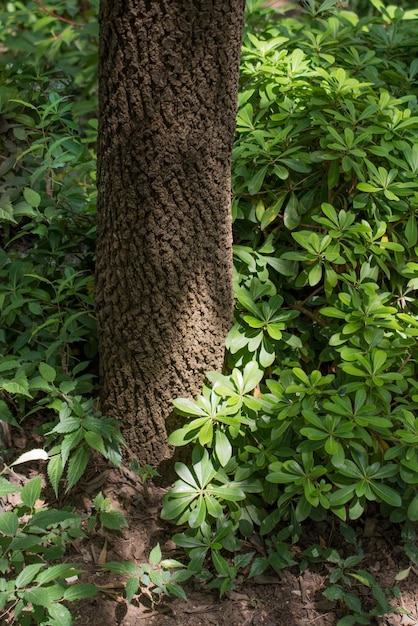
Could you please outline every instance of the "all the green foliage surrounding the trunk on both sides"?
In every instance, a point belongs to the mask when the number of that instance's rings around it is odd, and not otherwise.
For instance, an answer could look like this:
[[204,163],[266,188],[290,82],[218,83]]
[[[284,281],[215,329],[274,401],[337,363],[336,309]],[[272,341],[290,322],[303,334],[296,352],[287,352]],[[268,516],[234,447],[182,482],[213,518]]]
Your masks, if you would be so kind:
[[[111,564],[129,576],[130,600],[151,583],[182,596],[178,583],[192,573],[225,595],[243,576],[321,561],[341,626],[368,624],[391,610],[353,536],[370,511],[400,525],[417,562],[418,14],[372,4],[361,17],[309,0],[278,20],[248,2],[233,155],[235,322],[225,372],[208,374],[199,399],[174,401],[185,423],[170,441],[191,444],[193,462],[177,465],[162,509],[179,527],[187,571],[159,549],[144,566]],[[8,427],[43,416],[58,494],[94,451],[119,464],[122,441],[95,399],[97,3],[44,9],[11,2],[0,13],[0,418],[8,463]],[[137,470],[146,483],[152,468]],[[37,623],[70,623],[62,601],[93,589],[70,591],[77,564],[50,565],[48,550],[57,544],[59,560],[86,529],[73,511],[42,520],[40,488],[0,485],[2,495],[23,491],[0,514],[0,603],[19,623],[30,604]],[[103,496],[95,503],[103,525],[123,526]],[[304,523],[330,517],[354,555],[295,551]],[[254,534],[263,555],[242,550]]]

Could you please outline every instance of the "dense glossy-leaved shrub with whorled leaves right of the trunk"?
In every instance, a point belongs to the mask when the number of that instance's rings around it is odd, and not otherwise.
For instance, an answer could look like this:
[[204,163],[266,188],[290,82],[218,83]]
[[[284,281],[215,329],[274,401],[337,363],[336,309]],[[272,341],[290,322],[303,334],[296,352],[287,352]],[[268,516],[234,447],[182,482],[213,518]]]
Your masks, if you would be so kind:
[[194,537],[225,515],[297,539],[307,518],[370,503],[418,520],[418,12],[338,4],[263,14],[244,38],[232,373],[176,401],[190,421],[170,441],[250,488],[214,515],[207,485],[180,506],[176,484],[163,515]]

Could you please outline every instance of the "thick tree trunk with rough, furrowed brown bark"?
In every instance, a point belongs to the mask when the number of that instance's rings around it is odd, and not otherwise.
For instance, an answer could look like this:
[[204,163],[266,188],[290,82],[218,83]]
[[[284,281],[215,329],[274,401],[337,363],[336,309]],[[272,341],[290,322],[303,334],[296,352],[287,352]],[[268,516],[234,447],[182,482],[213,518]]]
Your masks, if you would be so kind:
[[96,310],[102,409],[141,464],[220,369],[243,0],[102,0]]

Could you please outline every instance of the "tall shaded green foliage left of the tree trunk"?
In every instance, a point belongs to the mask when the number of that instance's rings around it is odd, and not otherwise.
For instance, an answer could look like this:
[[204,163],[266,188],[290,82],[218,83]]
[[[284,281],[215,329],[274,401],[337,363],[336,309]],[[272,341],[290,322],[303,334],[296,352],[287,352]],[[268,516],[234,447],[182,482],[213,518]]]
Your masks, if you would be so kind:
[[[120,463],[95,409],[93,311],[97,3],[8,3],[0,14],[0,417],[48,415],[58,493],[90,449]],[[55,419],[55,421],[53,421]]]

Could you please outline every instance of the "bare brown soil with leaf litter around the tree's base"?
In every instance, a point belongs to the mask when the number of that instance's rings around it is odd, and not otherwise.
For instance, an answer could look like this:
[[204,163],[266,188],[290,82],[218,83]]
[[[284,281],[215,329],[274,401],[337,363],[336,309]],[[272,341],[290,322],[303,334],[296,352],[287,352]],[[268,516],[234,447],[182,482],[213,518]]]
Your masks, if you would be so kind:
[[[34,430],[28,423],[24,431],[12,432],[16,456],[40,447],[42,442],[34,439]],[[16,456],[12,454],[12,458]],[[19,466],[19,472],[26,474],[26,479],[40,473],[47,484],[46,466],[42,462]],[[129,560],[140,565],[157,542],[165,558],[181,560],[182,554],[171,541],[175,528],[159,517],[165,490],[151,484],[147,494],[132,472],[110,468],[101,458],[91,464],[81,483],[64,500],[57,502],[47,487],[50,500],[46,505],[59,508],[71,504],[78,512],[89,513],[92,499],[99,491],[110,498],[113,508],[125,515],[128,527],[121,532],[99,529],[87,539],[74,541],[67,558],[82,563],[85,572],[80,580],[104,589],[95,598],[69,607],[74,626],[335,626],[344,615],[338,602],[331,602],[322,594],[332,572],[330,563],[311,566],[303,575],[295,566],[285,570],[281,577],[269,571],[251,582],[238,581],[234,591],[222,600],[216,592],[192,580],[185,583],[187,602],[166,597],[153,602],[143,594],[128,604],[124,599],[126,578],[104,571],[100,563]],[[391,588],[395,576],[410,565],[400,545],[399,528],[376,515],[358,521],[354,529],[365,553],[359,567],[372,573],[383,588]],[[308,525],[296,550],[318,543],[335,547],[344,556],[352,550],[339,537],[332,518]],[[401,594],[391,601],[392,605],[408,614],[391,613],[370,624],[418,626],[418,569],[412,567],[409,576],[398,585]],[[363,606],[370,610],[374,603],[368,588],[359,584],[355,591],[361,594]]]

